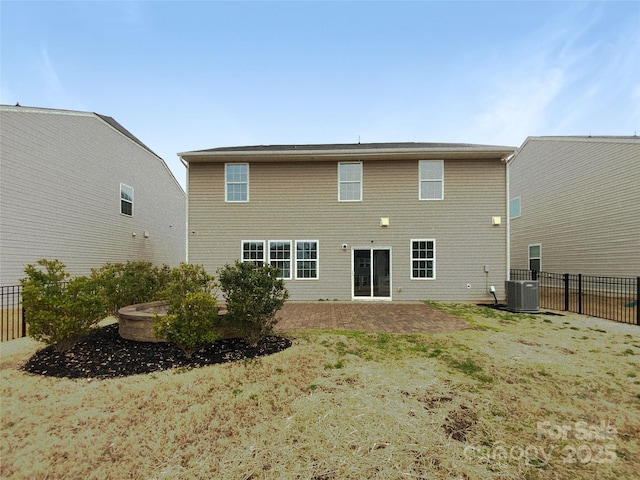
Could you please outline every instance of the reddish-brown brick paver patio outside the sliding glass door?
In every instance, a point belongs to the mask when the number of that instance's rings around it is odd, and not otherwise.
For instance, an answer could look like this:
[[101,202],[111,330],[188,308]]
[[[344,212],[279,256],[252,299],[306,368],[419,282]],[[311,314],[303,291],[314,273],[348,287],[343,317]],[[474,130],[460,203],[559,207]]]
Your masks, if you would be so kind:
[[464,320],[421,302],[287,302],[276,330],[304,328],[375,333],[445,333],[471,328]]

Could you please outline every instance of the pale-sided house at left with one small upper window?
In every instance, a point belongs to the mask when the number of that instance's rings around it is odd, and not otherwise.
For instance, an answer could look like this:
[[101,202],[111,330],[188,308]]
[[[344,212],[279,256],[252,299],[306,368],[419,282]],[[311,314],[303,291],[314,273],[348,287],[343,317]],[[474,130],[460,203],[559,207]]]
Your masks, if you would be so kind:
[[186,196],[165,162],[111,117],[0,106],[0,284],[59,259],[72,275],[107,262],[176,265]]

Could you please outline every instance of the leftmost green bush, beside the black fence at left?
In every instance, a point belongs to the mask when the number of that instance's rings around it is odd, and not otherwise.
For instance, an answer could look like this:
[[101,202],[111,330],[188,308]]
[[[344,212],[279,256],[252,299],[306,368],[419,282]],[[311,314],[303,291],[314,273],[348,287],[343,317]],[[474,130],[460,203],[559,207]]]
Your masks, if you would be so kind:
[[[96,282],[88,277],[69,279],[59,260],[41,259],[25,267],[22,305],[28,334],[59,352],[69,350],[106,316]],[[65,284],[65,282],[68,282]]]

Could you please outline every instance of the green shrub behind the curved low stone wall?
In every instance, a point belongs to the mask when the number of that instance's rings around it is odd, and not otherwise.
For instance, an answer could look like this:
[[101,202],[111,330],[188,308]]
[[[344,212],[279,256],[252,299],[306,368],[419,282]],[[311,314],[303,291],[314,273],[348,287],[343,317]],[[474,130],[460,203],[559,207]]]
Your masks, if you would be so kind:
[[107,312],[114,316],[122,307],[158,300],[168,276],[166,265],[156,267],[143,261],[107,263],[91,270],[91,278],[99,286]]

